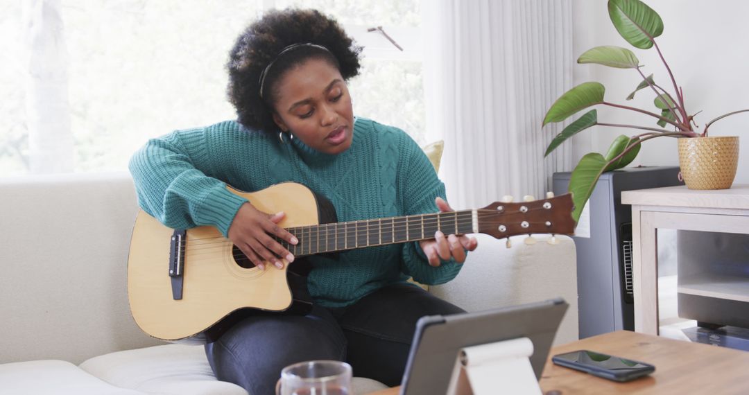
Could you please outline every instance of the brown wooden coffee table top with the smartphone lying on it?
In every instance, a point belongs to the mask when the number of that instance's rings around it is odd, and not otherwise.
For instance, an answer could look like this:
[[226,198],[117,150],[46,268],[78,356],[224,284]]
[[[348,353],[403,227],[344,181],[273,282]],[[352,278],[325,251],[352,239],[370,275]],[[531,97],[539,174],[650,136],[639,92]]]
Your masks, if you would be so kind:
[[[655,373],[632,382],[618,383],[551,363],[552,355],[577,349],[648,362],[655,365]],[[747,372],[749,352],[616,331],[552,348],[539,384],[547,395],[749,394]],[[398,395],[398,388],[371,395]]]

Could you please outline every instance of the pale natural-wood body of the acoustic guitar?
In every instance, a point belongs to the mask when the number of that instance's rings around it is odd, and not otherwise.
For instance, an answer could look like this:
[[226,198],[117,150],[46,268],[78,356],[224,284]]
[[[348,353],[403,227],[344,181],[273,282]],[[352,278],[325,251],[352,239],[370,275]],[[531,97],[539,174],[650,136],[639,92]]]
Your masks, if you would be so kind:
[[[246,197],[258,210],[285,212],[284,220],[279,223],[281,227],[335,221],[330,202],[301,184],[281,183],[252,193],[228,189]],[[169,240],[174,231],[141,210],[130,242],[127,263],[130,310],[139,327],[152,337],[205,343],[216,340],[248,314],[305,313],[311,307],[306,296],[306,279],[289,271],[290,265],[285,260],[284,269],[280,270],[272,265],[264,271],[254,266],[243,267],[234,258],[238,250],[231,241],[211,226],[187,230],[182,298],[175,300],[169,276]],[[291,265],[297,263],[295,260]],[[292,292],[290,282],[299,296]]]

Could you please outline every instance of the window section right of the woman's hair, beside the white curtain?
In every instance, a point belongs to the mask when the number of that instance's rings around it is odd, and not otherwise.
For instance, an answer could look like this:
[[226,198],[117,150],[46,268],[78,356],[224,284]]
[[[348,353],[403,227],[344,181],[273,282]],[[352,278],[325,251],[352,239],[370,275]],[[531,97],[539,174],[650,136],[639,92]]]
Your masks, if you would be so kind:
[[[364,46],[360,75],[349,84],[354,114],[404,129],[427,143],[422,82],[421,2],[419,0],[276,0],[278,8],[315,8],[333,16]],[[373,24],[372,21],[377,21]],[[383,26],[404,51],[383,34]]]

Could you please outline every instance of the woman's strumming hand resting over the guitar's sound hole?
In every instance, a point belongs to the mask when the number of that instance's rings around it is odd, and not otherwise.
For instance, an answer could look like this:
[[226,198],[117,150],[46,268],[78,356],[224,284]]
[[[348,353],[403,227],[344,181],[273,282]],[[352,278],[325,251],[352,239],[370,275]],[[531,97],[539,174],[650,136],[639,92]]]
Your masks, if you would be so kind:
[[244,203],[231,222],[229,239],[261,270],[265,269],[265,261],[283,269],[283,263],[279,258],[291,263],[294,261],[294,255],[272,236],[277,236],[292,245],[299,242],[293,234],[278,226],[284,216],[284,212],[270,215],[255,209],[249,202]]

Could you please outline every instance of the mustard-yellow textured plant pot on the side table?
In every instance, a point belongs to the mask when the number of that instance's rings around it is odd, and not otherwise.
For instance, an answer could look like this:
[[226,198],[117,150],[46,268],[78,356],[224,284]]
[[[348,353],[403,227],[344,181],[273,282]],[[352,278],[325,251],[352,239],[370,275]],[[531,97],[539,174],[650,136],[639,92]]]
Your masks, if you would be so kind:
[[739,165],[739,137],[679,138],[679,165],[688,189],[729,189]]

